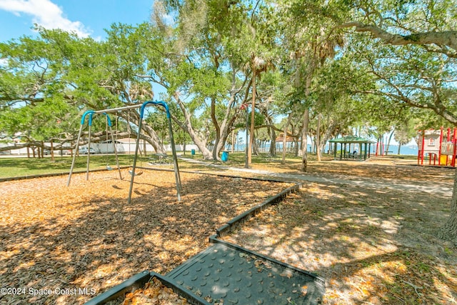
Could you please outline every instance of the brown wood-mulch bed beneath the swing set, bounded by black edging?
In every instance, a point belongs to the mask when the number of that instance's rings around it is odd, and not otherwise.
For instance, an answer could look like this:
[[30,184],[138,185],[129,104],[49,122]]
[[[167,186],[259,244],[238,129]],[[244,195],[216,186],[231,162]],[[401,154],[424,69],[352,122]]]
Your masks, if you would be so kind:
[[143,270],[166,274],[291,185],[181,173],[178,202],[173,172],[146,170],[127,204],[114,171],[66,179],[0,184],[0,304],[82,304]]

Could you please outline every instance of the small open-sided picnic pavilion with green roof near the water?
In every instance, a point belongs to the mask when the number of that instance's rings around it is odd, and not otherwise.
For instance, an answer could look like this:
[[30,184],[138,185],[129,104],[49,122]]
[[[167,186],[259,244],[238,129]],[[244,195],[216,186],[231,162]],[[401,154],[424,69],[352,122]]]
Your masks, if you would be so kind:
[[[343,136],[342,138],[331,139],[329,142],[334,144],[333,156],[335,160],[354,161],[365,161],[370,158],[371,144],[375,143],[359,136]],[[336,156],[338,144],[340,144],[339,159]]]

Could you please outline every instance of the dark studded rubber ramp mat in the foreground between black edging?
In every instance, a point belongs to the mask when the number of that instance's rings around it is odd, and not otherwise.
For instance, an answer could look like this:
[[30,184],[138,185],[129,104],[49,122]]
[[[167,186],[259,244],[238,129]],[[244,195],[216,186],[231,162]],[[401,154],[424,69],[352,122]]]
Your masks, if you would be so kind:
[[222,241],[166,277],[209,303],[319,304],[325,292],[315,274]]

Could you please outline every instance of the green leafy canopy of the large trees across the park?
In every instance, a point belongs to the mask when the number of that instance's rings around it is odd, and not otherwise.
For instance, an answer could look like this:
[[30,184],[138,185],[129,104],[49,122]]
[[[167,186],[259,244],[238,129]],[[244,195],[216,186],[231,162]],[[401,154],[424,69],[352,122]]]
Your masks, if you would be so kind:
[[[288,114],[301,114],[301,141],[318,130],[321,144],[433,118],[408,107],[456,125],[455,16],[455,1],[155,1],[150,21],[113,24],[104,41],[38,29],[0,44],[1,137],[74,143],[86,109],[151,99],[171,104],[175,129],[206,159],[248,103],[271,139]],[[118,115],[125,128],[139,119]],[[160,128],[142,131],[157,151]]]

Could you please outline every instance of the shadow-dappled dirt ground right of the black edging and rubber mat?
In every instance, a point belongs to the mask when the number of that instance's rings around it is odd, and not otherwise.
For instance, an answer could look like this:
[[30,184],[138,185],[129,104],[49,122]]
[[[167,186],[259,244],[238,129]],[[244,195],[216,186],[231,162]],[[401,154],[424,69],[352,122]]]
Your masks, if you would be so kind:
[[323,276],[324,304],[453,304],[457,249],[436,238],[449,200],[309,183],[227,239]]

